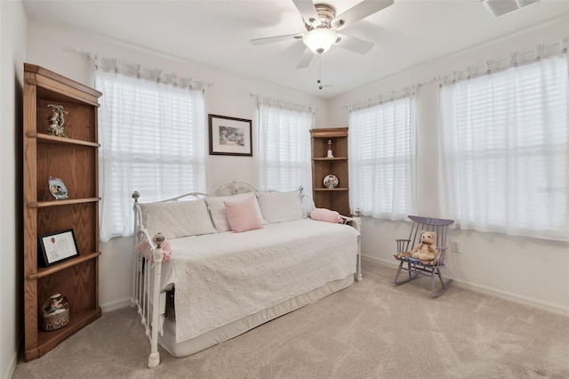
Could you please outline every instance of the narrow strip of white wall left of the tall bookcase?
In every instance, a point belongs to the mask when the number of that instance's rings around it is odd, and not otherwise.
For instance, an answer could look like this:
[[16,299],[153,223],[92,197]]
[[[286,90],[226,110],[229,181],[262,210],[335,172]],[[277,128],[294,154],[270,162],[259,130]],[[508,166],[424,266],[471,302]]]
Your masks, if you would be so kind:
[[16,366],[23,328],[21,121],[26,16],[20,1],[0,2],[0,378]]

